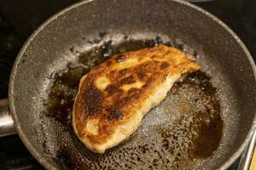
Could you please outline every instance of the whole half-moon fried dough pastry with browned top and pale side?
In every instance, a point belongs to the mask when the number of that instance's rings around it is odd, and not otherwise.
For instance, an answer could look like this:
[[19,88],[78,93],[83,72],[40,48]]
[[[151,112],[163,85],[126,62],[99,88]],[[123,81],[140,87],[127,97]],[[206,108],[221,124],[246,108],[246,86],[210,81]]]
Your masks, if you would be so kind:
[[75,133],[87,148],[104,153],[137,130],[183,73],[199,69],[186,54],[165,45],[113,55],[80,80]]

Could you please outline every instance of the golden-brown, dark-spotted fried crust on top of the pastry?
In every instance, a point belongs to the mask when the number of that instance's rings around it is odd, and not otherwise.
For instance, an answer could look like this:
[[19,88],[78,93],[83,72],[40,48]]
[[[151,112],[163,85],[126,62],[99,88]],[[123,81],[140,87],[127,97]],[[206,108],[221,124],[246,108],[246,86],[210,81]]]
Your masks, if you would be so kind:
[[[199,68],[177,48],[164,45],[113,55],[80,82],[73,108],[79,138],[91,144],[107,142],[115,127],[128,121],[166,77]],[[90,120],[98,120],[96,133],[86,131]]]

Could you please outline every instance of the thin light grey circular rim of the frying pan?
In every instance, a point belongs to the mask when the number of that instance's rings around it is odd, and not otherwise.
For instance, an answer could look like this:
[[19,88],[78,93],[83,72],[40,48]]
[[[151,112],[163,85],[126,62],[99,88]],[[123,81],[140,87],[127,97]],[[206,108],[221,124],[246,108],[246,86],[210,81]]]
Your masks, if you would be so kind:
[[[36,37],[38,35],[38,33],[44,29],[45,26],[49,25],[49,23],[51,23],[52,21],[58,19],[58,17],[60,17],[62,14],[66,14],[68,11],[72,10],[73,8],[78,8],[79,6],[81,6],[81,5],[85,4],[85,3],[91,3],[91,2],[94,2],[94,1],[96,1],[96,0],[85,0],[85,1],[82,1],[82,2],[79,2],[79,3],[74,3],[73,5],[71,5],[71,6],[67,7],[67,8],[62,9],[60,12],[54,14],[48,20],[44,21],[44,23],[41,26],[39,26],[38,29],[36,31],[34,31],[32,33],[32,35],[26,40],[26,42],[24,43],[23,47],[20,49],[20,52],[17,55],[17,58],[15,59],[15,63],[14,63],[13,68],[12,68],[12,72],[11,72],[11,76],[10,76],[10,80],[9,80],[9,109],[10,109],[11,116],[12,116],[14,122],[15,122],[16,131],[17,131],[18,135],[20,136],[20,139],[23,142],[23,144],[26,145],[27,150],[29,150],[30,153],[32,154],[32,156],[34,156],[38,160],[38,162],[41,165],[43,165],[46,169],[57,169],[57,167],[55,167],[54,165],[49,163],[49,161],[47,161],[43,156],[40,156],[38,151],[35,150],[35,148],[32,146],[32,144],[26,138],[26,134],[23,132],[23,130],[22,130],[21,126],[20,126],[20,122],[18,120],[18,116],[16,115],[15,99],[14,99],[14,96],[15,96],[15,90],[14,90],[15,84],[14,84],[14,81],[15,81],[18,65],[20,64],[20,60],[21,60],[23,54],[26,52],[26,48],[29,47],[30,42],[32,42],[34,37]],[[218,24],[218,26],[222,26],[225,31],[228,31],[228,33],[230,33],[230,35],[235,38],[236,42],[240,45],[240,47],[242,48],[243,52],[247,55],[247,59],[250,62],[250,65],[251,65],[251,67],[253,69],[253,75],[254,75],[254,78],[256,80],[256,66],[255,66],[255,63],[253,61],[253,57],[249,53],[249,51],[246,48],[246,46],[244,45],[244,43],[241,42],[241,39],[236,36],[236,33],[234,31],[232,31],[229,26],[226,26],[224,24],[224,22],[219,20],[218,17],[216,17],[215,15],[207,12],[203,8],[195,6],[192,3],[188,3],[188,2],[185,2],[183,0],[172,0],[172,1],[176,2],[176,3],[183,4],[183,5],[185,5],[185,6],[189,7],[189,8],[194,8],[195,10],[200,12],[201,14],[205,14],[211,20],[215,21]],[[254,115],[256,115],[256,113],[254,113]],[[230,156],[230,158],[227,161],[225,161],[222,165],[220,165],[220,167],[218,167],[219,170],[227,169],[228,167],[230,167],[230,165],[233,162],[236,161],[236,159],[239,156],[241,156],[242,151],[245,150],[248,142],[252,138],[253,131],[254,131],[255,128],[256,128],[256,116],[254,116],[252,127],[250,128],[249,132],[247,133],[246,139],[243,140],[243,143],[235,151],[235,153],[232,156]]]

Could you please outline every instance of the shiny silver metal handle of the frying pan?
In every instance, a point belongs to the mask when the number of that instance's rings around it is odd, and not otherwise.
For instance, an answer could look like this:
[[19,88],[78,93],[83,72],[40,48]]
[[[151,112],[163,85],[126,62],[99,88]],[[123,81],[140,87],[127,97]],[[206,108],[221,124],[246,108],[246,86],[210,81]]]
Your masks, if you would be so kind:
[[0,99],[0,137],[14,133],[15,123],[9,113],[9,99]]

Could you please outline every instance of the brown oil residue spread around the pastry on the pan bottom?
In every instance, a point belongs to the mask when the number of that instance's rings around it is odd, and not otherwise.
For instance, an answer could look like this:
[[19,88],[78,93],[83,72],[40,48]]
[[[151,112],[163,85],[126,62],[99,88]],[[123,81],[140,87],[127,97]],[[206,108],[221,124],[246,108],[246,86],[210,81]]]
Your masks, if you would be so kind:
[[[163,43],[130,40],[114,46],[111,41],[80,54],[78,63],[54,75],[46,102],[47,116],[60,122],[73,136],[75,150],[61,144],[57,158],[61,169],[196,169],[217,150],[223,131],[217,90],[201,71],[190,73],[174,84],[166,99],[149,111],[129,139],[98,155],[87,150],[73,133],[71,114],[79,80],[90,67],[111,54]],[[166,42],[183,50],[180,44]],[[73,50],[73,49],[71,49]],[[82,152],[82,153],[77,153]]]

